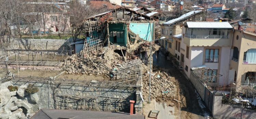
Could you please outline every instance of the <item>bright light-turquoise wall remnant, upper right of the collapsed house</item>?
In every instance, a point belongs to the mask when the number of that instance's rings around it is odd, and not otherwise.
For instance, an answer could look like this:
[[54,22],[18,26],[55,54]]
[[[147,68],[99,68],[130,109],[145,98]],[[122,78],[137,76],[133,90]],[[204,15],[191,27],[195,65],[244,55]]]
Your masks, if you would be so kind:
[[154,23],[151,25],[150,23],[130,23],[129,29],[135,34],[139,34],[139,37],[144,40],[152,41],[154,39]]

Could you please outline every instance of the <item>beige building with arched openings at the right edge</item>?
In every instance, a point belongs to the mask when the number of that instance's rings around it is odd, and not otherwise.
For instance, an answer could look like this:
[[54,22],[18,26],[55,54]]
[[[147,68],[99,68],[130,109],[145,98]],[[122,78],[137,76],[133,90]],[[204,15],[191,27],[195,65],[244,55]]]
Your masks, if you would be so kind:
[[231,87],[256,86],[256,34],[234,30],[230,54]]

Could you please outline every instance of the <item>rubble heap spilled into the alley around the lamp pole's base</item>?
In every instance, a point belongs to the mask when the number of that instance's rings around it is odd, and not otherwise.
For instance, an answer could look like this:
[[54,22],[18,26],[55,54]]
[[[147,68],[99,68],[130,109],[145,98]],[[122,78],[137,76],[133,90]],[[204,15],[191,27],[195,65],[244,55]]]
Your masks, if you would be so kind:
[[[168,76],[164,71],[151,73],[151,98],[160,100],[173,100],[177,95],[177,88],[173,82],[174,77]],[[149,72],[143,77],[143,98],[149,98]]]

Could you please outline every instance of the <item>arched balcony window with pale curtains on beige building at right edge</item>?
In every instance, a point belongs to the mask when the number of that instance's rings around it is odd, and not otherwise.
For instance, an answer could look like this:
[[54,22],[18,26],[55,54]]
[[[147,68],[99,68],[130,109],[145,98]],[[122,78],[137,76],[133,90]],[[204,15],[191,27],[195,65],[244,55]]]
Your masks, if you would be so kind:
[[256,49],[249,49],[244,53],[244,64],[256,64]]

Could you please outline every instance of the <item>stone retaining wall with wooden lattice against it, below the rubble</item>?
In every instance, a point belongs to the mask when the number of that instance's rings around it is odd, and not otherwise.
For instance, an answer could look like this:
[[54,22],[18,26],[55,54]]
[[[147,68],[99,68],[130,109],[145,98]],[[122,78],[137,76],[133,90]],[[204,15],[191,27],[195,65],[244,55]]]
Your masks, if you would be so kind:
[[[12,81],[12,84],[20,86],[28,85],[28,82]],[[39,109],[129,111],[129,101],[136,99],[136,89],[133,88],[100,88],[48,83],[33,84],[39,88]],[[121,100],[117,100],[118,98]]]

